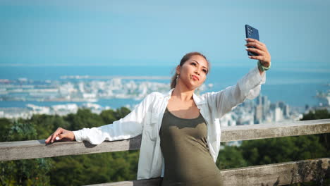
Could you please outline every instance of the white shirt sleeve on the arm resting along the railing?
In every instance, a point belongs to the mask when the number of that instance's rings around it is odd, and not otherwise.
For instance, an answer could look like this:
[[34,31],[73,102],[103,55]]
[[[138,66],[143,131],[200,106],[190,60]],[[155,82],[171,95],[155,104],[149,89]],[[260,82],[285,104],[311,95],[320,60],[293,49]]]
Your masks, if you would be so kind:
[[83,128],[82,130],[73,131],[75,140],[101,144],[104,140],[124,140],[142,134],[147,107],[151,102],[150,99],[152,99],[151,94],[147,95],[127,116],[114,121],[112,124],[103,125],[99,128]]

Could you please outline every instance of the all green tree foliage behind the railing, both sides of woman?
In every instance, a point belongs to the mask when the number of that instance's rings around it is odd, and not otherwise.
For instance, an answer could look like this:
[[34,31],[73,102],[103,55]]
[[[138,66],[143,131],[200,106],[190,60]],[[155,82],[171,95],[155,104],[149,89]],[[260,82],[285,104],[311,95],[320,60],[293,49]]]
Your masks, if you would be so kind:
[[[46,139],[56,128],[79,130],[111,124],[125,117],[121,108],[92,113],[79,109],[68,116],[35,115],[30,119],[0,118],[0,142]],[[302,120],[330,118],[327,110],[307,113]],[[219,152],[220,169],[329,157],[329,134],[243,141]],[[0,185],[88,185],[135,180],[139,151],[119,151],[79,156],[58,156],[0,162]]]

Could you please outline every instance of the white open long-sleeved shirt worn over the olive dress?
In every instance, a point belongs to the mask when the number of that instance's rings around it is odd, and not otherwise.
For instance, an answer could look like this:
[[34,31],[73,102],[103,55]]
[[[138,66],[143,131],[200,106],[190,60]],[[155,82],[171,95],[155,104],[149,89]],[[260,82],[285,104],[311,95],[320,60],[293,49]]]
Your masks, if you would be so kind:
[[[207,123],[207,145],[214,162],[220,150],[221,128],[219,119],[243,103],[255,99],[261,85],[266,82],[266,72],[260,75],[257,67],[252,68],[236,85],[219,92],[207,92],[193,99]],[[171,89],[166,94],[152,92],[125,118],[99,128],[83,128],[73,131],[75,140],[101,144],[104,140],[124,140],[142,134],[138,163],[138,180],[164,177],[164,157],[161,154],[159,130],[166,106],[171,98]]]

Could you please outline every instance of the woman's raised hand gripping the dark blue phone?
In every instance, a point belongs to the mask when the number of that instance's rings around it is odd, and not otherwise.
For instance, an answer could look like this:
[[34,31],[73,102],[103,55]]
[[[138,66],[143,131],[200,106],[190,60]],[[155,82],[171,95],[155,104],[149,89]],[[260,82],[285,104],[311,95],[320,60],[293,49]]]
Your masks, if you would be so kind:
[[258,54],[258,56],[249,56],[249,58],[258,59],[262,66],[269,67],[271,64],[271,56],[267,49],[266,44],[259,42],[257,39],[247,38],[245,39],[247,44],[245,46],[255,46],[254,48],[246,48],[247,51],[252,51]]

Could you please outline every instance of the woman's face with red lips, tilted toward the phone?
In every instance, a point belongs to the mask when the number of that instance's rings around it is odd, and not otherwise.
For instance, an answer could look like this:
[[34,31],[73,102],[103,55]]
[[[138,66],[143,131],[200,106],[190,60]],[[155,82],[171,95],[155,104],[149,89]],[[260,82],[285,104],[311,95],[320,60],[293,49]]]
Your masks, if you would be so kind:
[[195,55],[185,61],[183,66],[178,66],[176,73],[179,74],[179,83],[182,83],[188,89],[196,89],[206,80],[208,70],[209,66],[205,58]]

